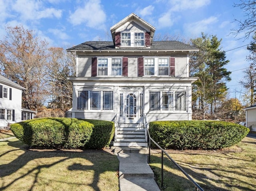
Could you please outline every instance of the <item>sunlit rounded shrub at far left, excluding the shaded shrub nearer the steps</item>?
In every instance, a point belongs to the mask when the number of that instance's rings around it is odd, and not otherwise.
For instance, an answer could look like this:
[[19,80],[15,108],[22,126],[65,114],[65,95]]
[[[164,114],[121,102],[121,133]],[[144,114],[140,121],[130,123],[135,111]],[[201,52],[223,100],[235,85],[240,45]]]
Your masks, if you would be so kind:
[[92,129],[93,124],[76,118],[38,118],[11,125],[14,136],[33,148],[81,148]]

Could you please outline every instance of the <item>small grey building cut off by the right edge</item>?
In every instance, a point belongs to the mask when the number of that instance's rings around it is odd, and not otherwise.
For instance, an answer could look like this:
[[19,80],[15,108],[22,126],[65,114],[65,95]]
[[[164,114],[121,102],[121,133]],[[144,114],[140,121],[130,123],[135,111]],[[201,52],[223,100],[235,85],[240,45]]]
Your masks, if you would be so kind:
[[246,127],[252,131],[256,131],[256,102],[250,106],[244,108],[246,112]]

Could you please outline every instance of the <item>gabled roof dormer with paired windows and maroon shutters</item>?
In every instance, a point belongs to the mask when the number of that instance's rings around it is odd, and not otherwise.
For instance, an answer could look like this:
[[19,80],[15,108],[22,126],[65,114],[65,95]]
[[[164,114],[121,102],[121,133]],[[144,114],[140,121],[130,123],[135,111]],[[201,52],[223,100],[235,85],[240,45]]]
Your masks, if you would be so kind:
[[150,48],[155,30],[134,13],[110,28],[116,48]]

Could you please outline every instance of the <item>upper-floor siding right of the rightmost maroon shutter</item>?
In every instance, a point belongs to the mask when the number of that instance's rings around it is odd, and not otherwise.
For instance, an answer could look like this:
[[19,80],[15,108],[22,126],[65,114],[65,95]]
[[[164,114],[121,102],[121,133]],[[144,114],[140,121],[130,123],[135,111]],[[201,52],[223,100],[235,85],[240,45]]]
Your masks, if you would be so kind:
[[176,56],[176,58],[175,58],[175,77],[188,77],[186,55]]

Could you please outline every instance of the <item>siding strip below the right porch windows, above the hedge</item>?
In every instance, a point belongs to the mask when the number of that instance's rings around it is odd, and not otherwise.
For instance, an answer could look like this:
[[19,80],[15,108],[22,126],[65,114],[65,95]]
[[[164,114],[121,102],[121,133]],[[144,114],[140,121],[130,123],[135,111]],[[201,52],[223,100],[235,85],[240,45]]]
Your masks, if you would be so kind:
[[188,113],[148,113],[146,115],[147,122],[150,121],[172,121],[172,120],[188,120]]

